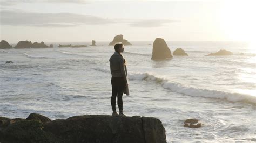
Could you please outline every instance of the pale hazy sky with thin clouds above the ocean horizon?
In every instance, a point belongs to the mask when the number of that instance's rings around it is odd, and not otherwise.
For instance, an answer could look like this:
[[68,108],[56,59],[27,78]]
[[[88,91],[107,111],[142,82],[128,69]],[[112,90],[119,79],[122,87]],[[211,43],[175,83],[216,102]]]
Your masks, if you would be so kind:
[[255,41],[256,1],[0,0],[0,40],[17,43]]

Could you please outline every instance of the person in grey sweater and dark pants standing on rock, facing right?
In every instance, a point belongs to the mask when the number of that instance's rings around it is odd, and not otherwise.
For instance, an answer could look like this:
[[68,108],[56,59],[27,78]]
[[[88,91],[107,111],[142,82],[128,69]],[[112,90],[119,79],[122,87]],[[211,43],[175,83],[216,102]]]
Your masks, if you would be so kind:
[[112,96],[111,96],[111,106],[112,106],[112,116],[118,116],[116,111],[116,97],[117,105],[119,108],[119,116],[125,116],[123,113],[123,94],[129,95],[128,88],[128,76],[126,69],[126,61],[121,53],[124,52],[124,45],[118,43],[114,45],[114,54],[110,57],[110,70],[111,70],[111,85],[112,85]]

